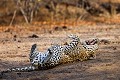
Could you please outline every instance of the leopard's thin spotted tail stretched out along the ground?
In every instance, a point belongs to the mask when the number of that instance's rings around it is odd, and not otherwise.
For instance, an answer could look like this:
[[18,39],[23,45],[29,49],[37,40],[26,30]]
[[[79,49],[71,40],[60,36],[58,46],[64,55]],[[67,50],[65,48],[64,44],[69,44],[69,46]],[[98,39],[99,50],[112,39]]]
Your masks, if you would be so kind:
[[2,71],[1,73],[8,73],[8,72],[30,72],[37,70],[34,66],[25,66],[25,67],[15,67],[10,68],[5,71]]

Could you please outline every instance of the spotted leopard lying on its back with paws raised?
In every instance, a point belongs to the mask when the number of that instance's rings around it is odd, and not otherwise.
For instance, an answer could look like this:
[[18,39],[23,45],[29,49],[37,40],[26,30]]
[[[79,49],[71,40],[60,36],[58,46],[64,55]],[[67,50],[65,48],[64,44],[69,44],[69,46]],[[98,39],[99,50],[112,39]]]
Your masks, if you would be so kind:
[[92,46],[87,44],[87,42],[81,44],[80,38],[76,35],[70,35],[68,37],[72,40],[70,43],[65,45],[52,45],[45,52],[39,52],[37,50],[37,45],[33,44],[29,54],[30,66],[10,68],[3,71],[3,73],[49,69],[59,64],[73,62],[75,60],[83,61],[93,57],[94,51],[96,50],[94,48],[95,44]]

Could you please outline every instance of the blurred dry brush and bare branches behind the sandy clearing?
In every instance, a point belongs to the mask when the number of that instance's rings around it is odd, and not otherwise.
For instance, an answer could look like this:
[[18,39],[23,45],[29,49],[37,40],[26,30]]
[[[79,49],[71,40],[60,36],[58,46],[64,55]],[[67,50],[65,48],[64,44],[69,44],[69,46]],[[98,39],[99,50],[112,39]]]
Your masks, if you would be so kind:
[[0,25],[119,23],[120,0],[1,0]]

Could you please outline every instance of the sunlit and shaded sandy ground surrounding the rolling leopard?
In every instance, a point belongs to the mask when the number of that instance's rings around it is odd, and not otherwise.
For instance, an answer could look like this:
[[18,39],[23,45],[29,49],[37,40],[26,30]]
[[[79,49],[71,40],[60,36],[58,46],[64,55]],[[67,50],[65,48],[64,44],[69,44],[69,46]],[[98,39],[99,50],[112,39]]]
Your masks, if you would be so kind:
[[[120,25],[93,25],[68,27],[51,33],[1,32],[0,71],[29,65],[31,45],[38,44],[45,51],[54,43],[62,44],[68,34],[76,34],[82,40],[98,37],[101,40],[97,58],[83,62],[58,65],[52,69],[33,72],[5,73],[0,80],[120,80]],[[39,38],[30,38],[36,34]]]

